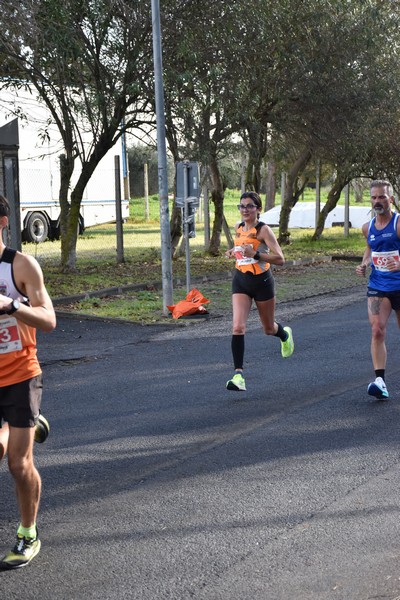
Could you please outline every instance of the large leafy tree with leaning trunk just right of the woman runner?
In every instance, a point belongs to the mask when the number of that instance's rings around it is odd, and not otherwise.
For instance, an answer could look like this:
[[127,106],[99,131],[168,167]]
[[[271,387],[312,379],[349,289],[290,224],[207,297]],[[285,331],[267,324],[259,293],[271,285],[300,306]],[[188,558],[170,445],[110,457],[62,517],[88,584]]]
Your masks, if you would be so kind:
[[[373,135],[372,123],[382,101],[388,106],[390,80],[398,73],[398,9],[373,0],[312,6],[288,0],[274,6],[279,13],[274,32],[279,80],[272,78],[269,86],[260,80],[259,121],[279,134],[287,156],[289,149],[296,156],[288,168],[292,182],[279,230],[281,243],[288,243],[290,211],[301,190],[299,176],[307,160],[314,157],[344,166],[354,162],[357,153],[361,158],[366,140],[361,140],[358,130],[366,133],[369,123],[369,135]],[[264,87],[272,88],[272,94],[265,93]],[[359,173],[360,168],[353,171]]]

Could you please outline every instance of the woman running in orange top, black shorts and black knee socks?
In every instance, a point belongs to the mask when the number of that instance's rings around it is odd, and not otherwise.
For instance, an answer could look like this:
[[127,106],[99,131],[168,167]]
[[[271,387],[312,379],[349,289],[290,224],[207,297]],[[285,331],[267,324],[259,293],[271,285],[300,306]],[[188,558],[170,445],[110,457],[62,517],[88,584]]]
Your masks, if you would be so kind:
[[238,209],[242,221],[235,227],[235,246],[225,255],[236,257],[232,281],[232,355],[235,373],[226,387],[228,390],[246,390],[243,377],[244,335],[253,299],[266,335],[281,340],[284,358],[293,354],[294,342],[290,327],[275,321],[275,285],[271,265],[283,265],[285,259],[272,229],[258,220],[261,199],[255,192],[240,197]]

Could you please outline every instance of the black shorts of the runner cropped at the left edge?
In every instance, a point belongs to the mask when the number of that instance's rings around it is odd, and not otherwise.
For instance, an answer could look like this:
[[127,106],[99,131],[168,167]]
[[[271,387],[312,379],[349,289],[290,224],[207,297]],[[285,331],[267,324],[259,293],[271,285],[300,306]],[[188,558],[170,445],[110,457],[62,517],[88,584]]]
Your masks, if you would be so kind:
[[0,388],[0,426],[34,427],[42,401],[42,375]]

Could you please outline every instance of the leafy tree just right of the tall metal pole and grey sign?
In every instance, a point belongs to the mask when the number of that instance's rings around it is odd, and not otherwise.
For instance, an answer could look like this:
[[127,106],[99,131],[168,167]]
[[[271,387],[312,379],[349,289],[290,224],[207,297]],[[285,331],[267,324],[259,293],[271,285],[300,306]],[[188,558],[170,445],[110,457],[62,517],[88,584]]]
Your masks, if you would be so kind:
[[[218,254],[224,226],[220,165],[248,112],[241,56],[257,22],[257,2],[175,4],[168,3],[163,15],[167,139],[175,160],[190,158],[208,167],[215,206],[209,252]],[[181,228],[174,215],[176,241]]]

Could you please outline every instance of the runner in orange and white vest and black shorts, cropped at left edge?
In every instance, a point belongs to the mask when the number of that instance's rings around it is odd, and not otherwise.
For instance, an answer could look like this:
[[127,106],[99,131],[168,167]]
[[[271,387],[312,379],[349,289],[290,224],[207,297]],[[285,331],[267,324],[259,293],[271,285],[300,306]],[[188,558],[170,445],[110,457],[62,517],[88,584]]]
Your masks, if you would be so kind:
[[3,242],[9,214],[9,204],[0,196],[0,423],[7,423],[0,440],[3,453],[8,453],[21,518],[16,544],[0,561],[0,569],[23,567],[40,550],[36,517],[41,479],[33,462],[33,442],[47,421],[39,415],[42,375],[36,328],[52,331],[56,325],[39,264]]

